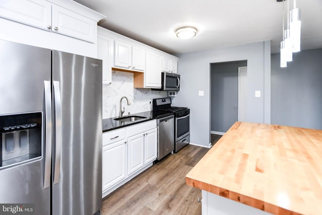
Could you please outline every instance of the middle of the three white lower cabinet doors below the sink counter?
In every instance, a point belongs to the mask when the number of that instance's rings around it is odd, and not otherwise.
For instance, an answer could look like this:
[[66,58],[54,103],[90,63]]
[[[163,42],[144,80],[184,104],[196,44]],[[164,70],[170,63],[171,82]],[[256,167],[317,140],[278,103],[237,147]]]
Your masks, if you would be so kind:
[[131,175],[144,165],[144,135],[143,133],[127,139],[127,173]]

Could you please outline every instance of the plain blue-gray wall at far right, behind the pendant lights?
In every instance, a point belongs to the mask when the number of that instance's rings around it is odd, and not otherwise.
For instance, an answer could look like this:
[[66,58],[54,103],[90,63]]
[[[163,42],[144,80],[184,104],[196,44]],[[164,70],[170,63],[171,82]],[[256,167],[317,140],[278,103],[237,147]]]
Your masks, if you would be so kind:
[[272,124],[322,129],[322,49],[293,53],[281,68],[271,56]]

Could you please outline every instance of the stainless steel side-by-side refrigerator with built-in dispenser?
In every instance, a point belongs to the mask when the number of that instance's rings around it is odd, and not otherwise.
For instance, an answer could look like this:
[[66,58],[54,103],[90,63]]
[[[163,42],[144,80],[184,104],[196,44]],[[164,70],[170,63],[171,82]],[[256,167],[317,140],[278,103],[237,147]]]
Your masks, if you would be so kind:
[[0,136],[0,204],[96,213],[102,61],[0,40]]

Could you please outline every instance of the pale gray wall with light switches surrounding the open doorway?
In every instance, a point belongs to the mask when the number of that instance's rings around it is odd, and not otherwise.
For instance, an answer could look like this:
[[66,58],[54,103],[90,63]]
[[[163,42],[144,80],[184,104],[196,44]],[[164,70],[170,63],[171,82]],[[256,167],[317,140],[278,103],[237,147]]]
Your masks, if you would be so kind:
[[[190,142],[209,146],[210,63],[235,60],[248,62],[247,121],[270,123],[270,41],[179,54],[181,87],[173,106],[190,108]],[[269,64],[268,64],[269,62]],[[198,96],[203,90],[204,96]],[[260,90],[262,97],[255,98]],[[265,99],[264,99],[265,97]]]

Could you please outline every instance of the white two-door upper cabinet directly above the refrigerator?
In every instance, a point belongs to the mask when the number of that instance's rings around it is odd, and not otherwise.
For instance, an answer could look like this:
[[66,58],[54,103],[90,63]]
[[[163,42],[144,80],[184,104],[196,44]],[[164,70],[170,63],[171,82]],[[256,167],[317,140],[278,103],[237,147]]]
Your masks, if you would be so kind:
[[[70,3],[75,4],[75,3]],[[77,7],[82,7],[77,5]],[[82,7],[82,10],[85,7]],[[93,12],[92,12],[93,13]],[[97,21],[45,0],[1,0],[0,17],[96,43]]]

